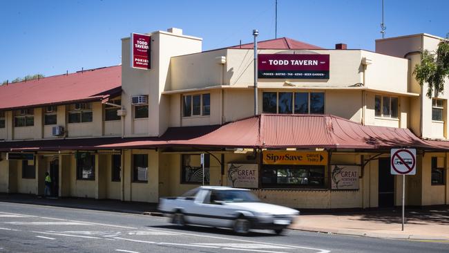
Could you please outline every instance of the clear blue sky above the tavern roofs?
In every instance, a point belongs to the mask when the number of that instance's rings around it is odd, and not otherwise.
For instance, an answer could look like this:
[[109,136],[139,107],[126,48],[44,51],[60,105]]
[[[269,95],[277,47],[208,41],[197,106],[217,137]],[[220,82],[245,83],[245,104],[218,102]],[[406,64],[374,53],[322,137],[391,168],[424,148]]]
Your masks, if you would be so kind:
[[[0,1],[0,82],[121,62],[131,32],[182,28],[203,50],[273,39],[275,0]],[[426,32],[446,37],[448,0],[385,0],[386,37]],[[381,38],[381,0],[278,0],[278,37],[324,48],[374,50]]]

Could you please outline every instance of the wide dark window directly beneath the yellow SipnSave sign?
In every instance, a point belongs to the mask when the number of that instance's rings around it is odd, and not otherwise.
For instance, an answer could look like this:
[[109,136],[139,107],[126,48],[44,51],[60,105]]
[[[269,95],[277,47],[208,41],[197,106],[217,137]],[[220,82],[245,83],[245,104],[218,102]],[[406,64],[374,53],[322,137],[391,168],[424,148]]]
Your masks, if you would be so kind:
[[324,166],[263,165],[262,187],[325,187]]

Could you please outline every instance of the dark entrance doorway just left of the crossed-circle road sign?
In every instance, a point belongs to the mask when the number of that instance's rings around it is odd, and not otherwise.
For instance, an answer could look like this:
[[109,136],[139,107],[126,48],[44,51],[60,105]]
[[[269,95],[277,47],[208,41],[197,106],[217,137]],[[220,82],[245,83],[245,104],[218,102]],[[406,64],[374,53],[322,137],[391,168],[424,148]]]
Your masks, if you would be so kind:
[[394,175],[390,158],[379,159],[379,207],[394,207]]

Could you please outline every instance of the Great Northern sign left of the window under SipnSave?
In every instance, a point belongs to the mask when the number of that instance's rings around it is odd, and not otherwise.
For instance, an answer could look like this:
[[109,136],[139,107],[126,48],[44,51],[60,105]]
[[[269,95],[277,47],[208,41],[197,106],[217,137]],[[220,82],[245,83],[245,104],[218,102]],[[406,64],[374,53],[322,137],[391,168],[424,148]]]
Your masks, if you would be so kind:
[[238,188],[258,188],[258,165],[228,163],[228,186]]

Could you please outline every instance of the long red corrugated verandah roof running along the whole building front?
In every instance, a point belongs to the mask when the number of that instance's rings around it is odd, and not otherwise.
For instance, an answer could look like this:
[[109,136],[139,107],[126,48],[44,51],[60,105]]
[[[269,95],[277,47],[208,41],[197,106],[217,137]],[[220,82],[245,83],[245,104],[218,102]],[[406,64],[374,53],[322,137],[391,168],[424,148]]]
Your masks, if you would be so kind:
[[171,127],[160,137],[0,142],[0,151],[144,149],[156,147],[449,150],[409,129],[363,126],[334,115],[262,114],[222,126]]

